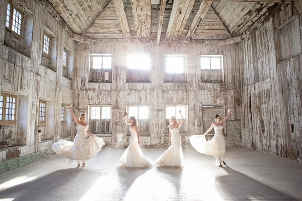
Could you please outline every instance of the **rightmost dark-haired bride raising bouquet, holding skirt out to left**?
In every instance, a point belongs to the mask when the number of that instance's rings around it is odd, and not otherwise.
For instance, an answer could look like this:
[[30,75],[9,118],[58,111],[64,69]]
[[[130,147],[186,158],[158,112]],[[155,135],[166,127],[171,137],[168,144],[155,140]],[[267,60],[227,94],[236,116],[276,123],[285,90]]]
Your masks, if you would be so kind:
[[[203,134],[203,135],[192,135],[189,137],[191,145],[196,151],[199,153],[213,156],[215,157],[216,161],[215,164],[221,167],[221,163],[226,165],[224,161],[224,154],[225,154],[225,141],[222,133],[223,124],[226,120],[230,117],[233,112],[229,109],[228,115],[221,121],[221,117],[216,115],[216,122],[212,123],[210,128]],[[210,132],[214,128],[215,135],[214,137],[206,141],[205,136],[208,132]]]

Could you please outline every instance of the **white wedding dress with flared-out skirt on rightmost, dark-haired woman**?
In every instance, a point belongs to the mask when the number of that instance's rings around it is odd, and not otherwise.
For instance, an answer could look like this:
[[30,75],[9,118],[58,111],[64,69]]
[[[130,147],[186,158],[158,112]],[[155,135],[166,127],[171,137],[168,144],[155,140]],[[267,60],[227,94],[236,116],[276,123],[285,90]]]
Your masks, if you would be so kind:
[[202,135],[192,135],[189,137],[191,145],[199,153],[213,156],[216,161],[215,164],[219,165],[224,160],[225,154],[225,140],[222,134],[223,126],[214,126],[214,137],[207,141]]

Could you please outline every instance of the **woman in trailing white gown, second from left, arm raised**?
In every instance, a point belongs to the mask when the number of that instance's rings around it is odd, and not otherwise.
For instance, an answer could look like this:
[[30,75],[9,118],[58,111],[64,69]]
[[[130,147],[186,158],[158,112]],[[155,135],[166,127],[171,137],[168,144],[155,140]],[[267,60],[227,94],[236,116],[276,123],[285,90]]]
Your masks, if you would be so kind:
[[127,119],[127,113],[124,113],[124,120],[126,124],[130,125],[130,142],[128,148],[124,151],[122,156],[120,157],[119,162],[131,168],[144,168],[152,166],[152,163],[147,159],[143,154],[139,147],[140,140],[139,140],[139,132],[136,126],[136,119],[135,117],[130,117],[129,120]]

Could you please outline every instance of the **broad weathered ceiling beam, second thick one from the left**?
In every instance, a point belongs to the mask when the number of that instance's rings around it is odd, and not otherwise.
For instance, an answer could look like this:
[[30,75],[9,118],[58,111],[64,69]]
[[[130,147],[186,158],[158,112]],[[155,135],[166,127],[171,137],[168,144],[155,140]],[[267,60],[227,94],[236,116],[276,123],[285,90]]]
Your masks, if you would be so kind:
[[131,0],[132,15],[138,38],[148,41],[151,32],[151,1]]

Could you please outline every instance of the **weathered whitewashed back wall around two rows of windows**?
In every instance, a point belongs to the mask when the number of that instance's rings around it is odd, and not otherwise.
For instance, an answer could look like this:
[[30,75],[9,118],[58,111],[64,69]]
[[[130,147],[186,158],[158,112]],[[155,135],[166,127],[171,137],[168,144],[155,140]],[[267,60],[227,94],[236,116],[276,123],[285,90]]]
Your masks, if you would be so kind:
[[[236,46],[209,44],[155,44],[143,43],[99,43],[81,44],[76,47],[74,106],[80,112],[88,113],[89,105],[110,105],[112,107],[112,135],[104,136],[106,144],[127,146],[127,126],[122,121],[128,105],[148,105],[150,109],[149,135],[141,137],[142,144],[161,147],[167,144],[165,107],[169,105],[188,106],[187,133],[182,136],[183,144],[189,145],[188,137],[203,132],[202,106],[221,105],[222,116],[228,108],[235,110],[226,126],[228,145],[240,145],[240,109],[238,101],[239,73],[236,70]],[[90,54],[112,54],[112,83],[89,82]],[[150,82],[127,82],[126,55],[128,53],[149,53],[152,67]],[[164,55],[187,55],[187,82],[165,82]],[[221,83],[203,80],[205,71],[200,69],[201,54],[222,54],[224,79]],[[78,113],[80,114],[80,113]],[[214,121],[214,117],[212,117]]]

